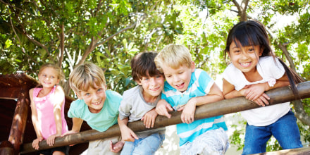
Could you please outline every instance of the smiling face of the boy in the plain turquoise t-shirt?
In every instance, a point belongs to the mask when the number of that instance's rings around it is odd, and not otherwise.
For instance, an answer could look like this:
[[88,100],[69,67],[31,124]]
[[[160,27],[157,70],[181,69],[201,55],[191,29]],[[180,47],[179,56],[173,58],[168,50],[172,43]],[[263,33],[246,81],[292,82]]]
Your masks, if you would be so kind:
[[80,91],[77,97],[85,101],[90,112],[99,113],[104,107],[104,101],[106,101],[106,85],[89,87],[86,91]]

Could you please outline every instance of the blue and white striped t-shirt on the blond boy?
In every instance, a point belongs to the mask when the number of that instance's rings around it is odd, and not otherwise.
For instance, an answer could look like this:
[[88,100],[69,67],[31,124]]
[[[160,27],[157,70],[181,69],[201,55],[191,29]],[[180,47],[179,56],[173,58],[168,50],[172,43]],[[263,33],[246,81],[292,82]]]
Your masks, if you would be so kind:
[[[187,104],[187,101],[192,97],[202,97],[209,94],[213,84],[214,80],[208,75],[208,73],[204,70],[196,69],[192,73],[190,85],[185,92],[179,92],[177,89],[169,85],[168,82],[165,82],[161,99],[165,99],[176,111],[181,106]],[[196,137],[202,135],[208,130],[216,130],[218,128],[227,130],[223,116],[194,120],[194,122],[190,124],[180,123],[177,125],[180,146],[186,142],[192,142]]]

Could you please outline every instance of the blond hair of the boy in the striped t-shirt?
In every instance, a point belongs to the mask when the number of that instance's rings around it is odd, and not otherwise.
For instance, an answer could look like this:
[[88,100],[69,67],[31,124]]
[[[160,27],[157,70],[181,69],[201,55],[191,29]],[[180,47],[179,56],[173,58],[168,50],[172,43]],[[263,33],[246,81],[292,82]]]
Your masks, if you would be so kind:
[[190,50],[183,45],[168,44],[165,46],[154,59],[157,69],[163,73],[161,66],[164,64],[171,68],[178,68],[180,66],[191,67],[192,56]]

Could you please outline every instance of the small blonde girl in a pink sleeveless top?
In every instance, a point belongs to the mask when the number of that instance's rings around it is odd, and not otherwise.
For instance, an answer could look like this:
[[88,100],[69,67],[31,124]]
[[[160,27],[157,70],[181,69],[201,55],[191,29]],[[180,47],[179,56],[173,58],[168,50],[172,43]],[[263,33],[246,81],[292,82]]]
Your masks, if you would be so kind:
[[[32,123],[37,139],[32,147],[39,149],[39,142],[46,140],[53,146],[56,137],[68,131],[64,115],[65,94],[58,85],[63,72],[58,66],[46,63],[39,70],[39,86],[29,90]],[[69,147],[56,147],[42,150],[40,154],[68,154]]]

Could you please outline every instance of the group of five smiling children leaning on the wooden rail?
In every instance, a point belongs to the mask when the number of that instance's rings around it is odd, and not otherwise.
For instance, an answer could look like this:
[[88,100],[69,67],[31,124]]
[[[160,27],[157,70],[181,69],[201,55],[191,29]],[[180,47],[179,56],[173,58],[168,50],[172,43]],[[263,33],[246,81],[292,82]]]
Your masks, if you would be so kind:
[[[132,78],[137,82],[123,93],[107,90],[104,71],[93,63],[77,66],[69,83],[78,99],[70,104],[68,130],[64,118],[64,92],[57,85],[61,69],[46,64],[39,70],[41,87],[30,89],[32,122],[37,139],[50,146],[55,137],[80,132],[83,121],[104,132],[118,123],[121,136],[89,142],[87,154],[154,154],[165,139],[165,128],[156,128],[156,116],[171,118],[170,111],[182,111],[177,125],[180,154],[225,154],[228,130],[223,116],[194,120],[196,107],[243,96],[261,106],[241,111],[247,120],[242,154],[266,151],[273,135],[283,149],[302,147],[299,129],[289,103],[268,105],[269,89],[295,84],[301,78],[275,58],[264,26],[255,20],[240,22],[230,30],[225,54],[230,65],[223,73],[223,92],[204,70],[195,68],[190,51],[169,44],[155,51],[137,54],[131,61]],[[148,130],[133,132],[128,122],[142,120]],[[41,154],[68,154],[68,147],[40,151]]]

